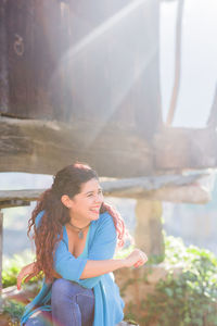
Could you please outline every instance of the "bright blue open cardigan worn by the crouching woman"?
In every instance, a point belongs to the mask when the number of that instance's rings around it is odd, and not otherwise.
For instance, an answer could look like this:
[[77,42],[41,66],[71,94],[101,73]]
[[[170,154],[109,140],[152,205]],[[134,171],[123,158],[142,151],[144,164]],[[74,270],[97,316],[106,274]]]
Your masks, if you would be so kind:
[[[40,223],[43,211],[36,220]],[[119,289],[114,283],[112,273],[98,277],[80,279],[80,275],[88,260],[110,260],[116,248],[117,235],[112,216],[105,212],[100,214],[99,220],[92,221],[89,228],[88,259],[75,258],[68,251],[68,238],[65,226],[63,226],[63,239],[60,241],[54,256],[54,268],[65,279],[73,280],[91,288],[94,291],[94,322],[93,326],[115,326],[123,321],[124,301],[119,296]],[[51,311],[49,304],[52,284],[43,280],[42,288],[36,298],[26,306],[21,319],[21,326],[36,311]],[[36,308],[37,306],[37,308]]]

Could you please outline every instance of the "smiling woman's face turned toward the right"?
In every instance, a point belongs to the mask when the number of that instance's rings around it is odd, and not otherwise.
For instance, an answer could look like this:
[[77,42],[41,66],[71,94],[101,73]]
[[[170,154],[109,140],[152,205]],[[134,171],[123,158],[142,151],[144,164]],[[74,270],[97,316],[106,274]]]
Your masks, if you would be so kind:
[[103,202],[102,188],[93,178],[81,185],[80,192],[69,200],[69,213],[73,218],[94,221],[99,218]]

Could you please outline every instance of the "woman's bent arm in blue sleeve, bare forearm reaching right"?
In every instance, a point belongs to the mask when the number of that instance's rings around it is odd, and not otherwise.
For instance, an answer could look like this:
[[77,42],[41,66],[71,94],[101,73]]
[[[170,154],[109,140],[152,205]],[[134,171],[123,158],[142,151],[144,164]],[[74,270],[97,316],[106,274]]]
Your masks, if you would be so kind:
[[55,272],[63,278],[88,288],[92,288],[103,274],[122,267],[138,267],[146,262],[145,254],[139,249],[132,251],[125,260],[114,260],[117,234],[113,218],[107,213],[100,218],[87,259],[75,259],[64,241],[60,242],[55,251]]

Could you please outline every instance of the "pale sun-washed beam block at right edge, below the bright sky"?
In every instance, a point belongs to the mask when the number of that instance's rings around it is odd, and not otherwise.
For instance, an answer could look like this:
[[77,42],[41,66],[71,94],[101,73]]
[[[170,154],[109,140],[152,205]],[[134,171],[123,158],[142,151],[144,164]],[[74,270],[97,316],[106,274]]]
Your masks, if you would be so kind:
[[169,128],[154,139],[156,171],[199,170],[217,166],[217,131],[213,128]]

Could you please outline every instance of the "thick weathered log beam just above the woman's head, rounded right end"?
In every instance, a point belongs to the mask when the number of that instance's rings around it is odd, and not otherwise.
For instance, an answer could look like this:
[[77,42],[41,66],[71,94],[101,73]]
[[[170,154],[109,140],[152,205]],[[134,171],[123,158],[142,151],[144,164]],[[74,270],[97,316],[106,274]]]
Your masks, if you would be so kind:
[[133,129],[99,122],[69,125],[0,117],[0,172],[54,174],[76,160],[108,177],[136,177],[153,170],[150,146]]

